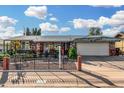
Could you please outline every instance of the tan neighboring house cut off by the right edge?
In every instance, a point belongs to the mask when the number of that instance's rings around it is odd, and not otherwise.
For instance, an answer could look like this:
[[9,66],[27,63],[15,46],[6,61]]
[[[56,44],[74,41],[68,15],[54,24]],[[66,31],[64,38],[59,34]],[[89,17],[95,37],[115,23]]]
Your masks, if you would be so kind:
[[124,32],[118,33],[115,38],[119,38],[120,41],[115,43],[115,47],[119,48],[124,53]]

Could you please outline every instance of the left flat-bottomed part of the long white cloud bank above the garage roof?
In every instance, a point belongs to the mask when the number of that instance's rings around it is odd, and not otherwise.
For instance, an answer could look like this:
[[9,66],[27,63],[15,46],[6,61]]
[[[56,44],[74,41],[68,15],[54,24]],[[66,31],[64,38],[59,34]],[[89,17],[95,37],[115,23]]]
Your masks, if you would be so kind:
[[99,24],[96,20],[93,19],[74,19],[73,20],[74,28],[75,29],[82,29],[82,28],[89,28],[89,27],[100,27],[102,25]]

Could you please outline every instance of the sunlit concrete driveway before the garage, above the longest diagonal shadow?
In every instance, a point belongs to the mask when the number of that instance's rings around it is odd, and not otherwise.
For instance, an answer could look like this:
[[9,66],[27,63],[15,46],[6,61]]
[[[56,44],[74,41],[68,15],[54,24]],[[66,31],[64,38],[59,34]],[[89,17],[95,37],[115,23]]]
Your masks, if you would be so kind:
[[[115,87],[124,87],[124,61],[111,60],[92,60],[82,63],[84,73],[98,79],[106,78],[111,81]],[[107,81],[106,80],[106,81]],[[110,83],[110,82],[109,82]]]

